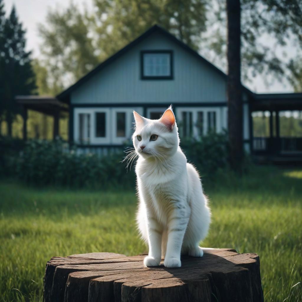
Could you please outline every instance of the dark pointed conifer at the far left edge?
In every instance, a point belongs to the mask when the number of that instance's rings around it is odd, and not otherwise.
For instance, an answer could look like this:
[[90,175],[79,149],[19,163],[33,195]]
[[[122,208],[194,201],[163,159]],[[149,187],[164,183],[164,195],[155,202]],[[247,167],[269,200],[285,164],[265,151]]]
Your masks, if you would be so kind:
[[31,52],[25,51],[25,31],[18,21],[13,6],[2,29],[3,45],[0,57],[0,87],[3,114],[11,136],[11,125],[19,112],[15,102],[16,95],[27,95],[36,88],[35,76],[31,67]]

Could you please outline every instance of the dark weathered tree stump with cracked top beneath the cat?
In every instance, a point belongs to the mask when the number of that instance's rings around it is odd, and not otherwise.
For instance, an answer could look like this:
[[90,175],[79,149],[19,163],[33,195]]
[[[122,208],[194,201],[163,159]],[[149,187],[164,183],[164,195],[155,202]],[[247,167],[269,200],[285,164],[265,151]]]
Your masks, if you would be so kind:
[[256,254],[215,249],[201,258],[182,257],[181,268],[146,268],[143,259],[114,253],[53,257],[43,301],[263,301]]

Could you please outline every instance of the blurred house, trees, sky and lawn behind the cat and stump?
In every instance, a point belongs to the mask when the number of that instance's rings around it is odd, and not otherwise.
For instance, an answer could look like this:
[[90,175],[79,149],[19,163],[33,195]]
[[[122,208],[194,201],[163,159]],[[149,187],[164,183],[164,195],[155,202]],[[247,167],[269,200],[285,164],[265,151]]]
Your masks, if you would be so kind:
[[[147,251],[132,111],[170,105],[213,212],[302,301],[300,0],[0,0],[0,298],[42,301],[52,256]],[[126,150],[126,153],[125,153]]]

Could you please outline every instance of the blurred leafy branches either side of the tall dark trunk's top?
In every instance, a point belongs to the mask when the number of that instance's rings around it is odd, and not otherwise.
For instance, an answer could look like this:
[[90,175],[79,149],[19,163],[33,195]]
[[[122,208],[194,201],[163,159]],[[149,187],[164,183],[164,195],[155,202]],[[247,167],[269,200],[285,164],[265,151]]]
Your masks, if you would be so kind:
[[[214,50],[217,63],[224,66],[226,56],[226,2],[212,0],[217,7],[212,24],[214,31],[207,49]],[[241,0],[241,66],[242,80],[257,74],[269,84],[270,79],[284,81],[289,75],[285,45],[302,49],[301,0]],[[267,44],[269,40],[270,44]],[[276,49],[283,50],[283,56]]]

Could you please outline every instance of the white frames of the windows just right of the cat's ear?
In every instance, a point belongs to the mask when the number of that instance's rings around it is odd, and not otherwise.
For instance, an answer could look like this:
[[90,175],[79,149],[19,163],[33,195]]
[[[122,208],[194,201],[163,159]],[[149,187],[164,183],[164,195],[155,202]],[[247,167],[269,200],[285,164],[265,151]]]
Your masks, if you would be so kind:
[[197,112],[202,111],[204,113],[204,127],[203,127],[203,134],[207,134],[208,129],[207,129],[207,113],[209,111],[214,111],[216,112],[216,132],[220,133],[222,130],[222,125],[221,125],[221,110],[220,107],[177,107],[176,108],[176,121],[178,123],[182,122],[182,112],[192,112],[192,121],[193,121],[193,137],[198,138],[198,128],[196,127],[197,123],[197,117],[198,114]]

